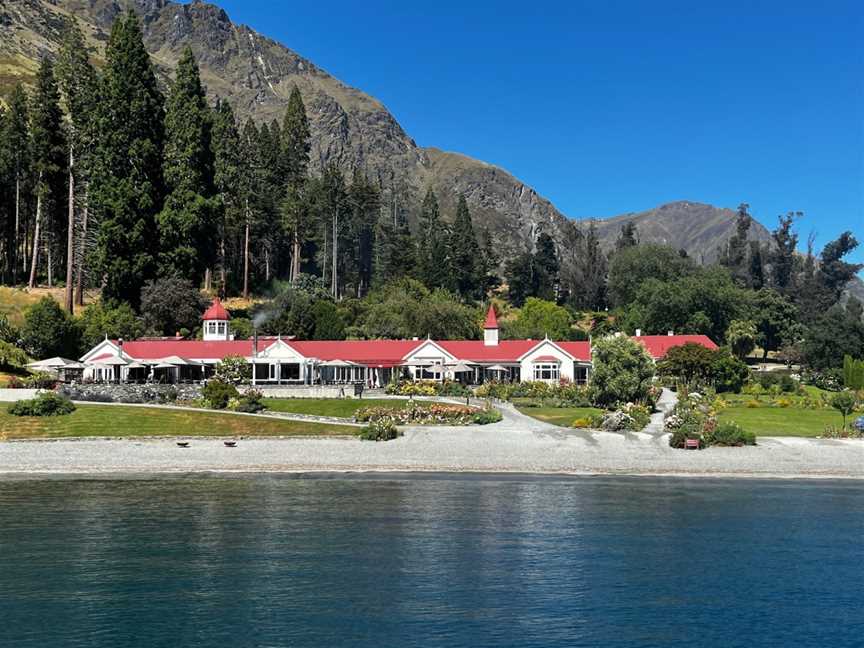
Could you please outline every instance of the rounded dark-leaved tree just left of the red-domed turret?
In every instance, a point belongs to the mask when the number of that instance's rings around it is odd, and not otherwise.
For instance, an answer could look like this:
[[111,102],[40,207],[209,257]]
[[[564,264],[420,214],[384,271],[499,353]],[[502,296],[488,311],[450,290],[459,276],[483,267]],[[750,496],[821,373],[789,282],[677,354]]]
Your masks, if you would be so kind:
[[145,328],[157,335],[194,331],[207,305],[198,287],[185,277],[160,277],[148,281],[141,291],[141,318]]

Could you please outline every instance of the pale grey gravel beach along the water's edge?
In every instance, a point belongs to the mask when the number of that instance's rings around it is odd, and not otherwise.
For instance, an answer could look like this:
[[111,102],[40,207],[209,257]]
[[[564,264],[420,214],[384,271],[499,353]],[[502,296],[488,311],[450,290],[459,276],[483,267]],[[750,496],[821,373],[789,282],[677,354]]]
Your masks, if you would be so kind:
[[662,433],[579,431],[510,408],[487,426],[409,428],[355,439],[83,439],[0,443],[0,476],[189,472],[492,472],[864,479],[864,441],[760,437],[743,448],[674,450]]

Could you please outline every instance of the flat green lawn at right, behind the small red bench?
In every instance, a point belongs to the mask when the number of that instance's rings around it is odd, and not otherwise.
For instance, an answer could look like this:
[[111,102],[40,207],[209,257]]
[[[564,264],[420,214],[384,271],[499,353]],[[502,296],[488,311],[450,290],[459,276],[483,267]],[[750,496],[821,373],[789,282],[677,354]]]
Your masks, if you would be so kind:
[[717,420],[733,421],[756,436],[816,437],[822,436],[828,425],[843,425],[843,417],[836,410],[801,407],[727,407]]

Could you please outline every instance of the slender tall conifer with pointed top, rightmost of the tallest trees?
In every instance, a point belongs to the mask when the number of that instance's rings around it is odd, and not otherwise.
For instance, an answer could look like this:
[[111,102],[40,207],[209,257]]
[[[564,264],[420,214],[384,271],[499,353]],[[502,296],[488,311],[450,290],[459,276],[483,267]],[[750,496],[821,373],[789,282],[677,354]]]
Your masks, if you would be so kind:
[[304,200],[310,150],[309,119],[297,86],[291,88],[282,122],[282,165],[285,172],[283,222],[291,238],[291,282],[300,274],[301,247],[308,236],[308,205]]

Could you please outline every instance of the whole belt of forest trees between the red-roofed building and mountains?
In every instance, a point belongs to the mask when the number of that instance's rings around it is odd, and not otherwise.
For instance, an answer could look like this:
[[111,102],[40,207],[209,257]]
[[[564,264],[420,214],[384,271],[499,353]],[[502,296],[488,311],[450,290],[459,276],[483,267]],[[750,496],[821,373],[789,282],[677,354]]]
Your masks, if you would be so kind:
[[[273,295],[265,328],[299,337],[476,337],[495,296],[511,336],[673,330],[736,349],[752,338],[817,369],[864,357],[861,305],[841,300],[861,269],[844,260],[850,232],[801,254],[797,214],[759,243],[742,204],[711,266],[641,243],[633,224],[607,252],[576,222],[504,260],[464,196],[447,197],[452,214],[431,189],[417,213],[391,209],[362,168],[312,173],[310,138],[296,87],[282,120],[239,123],[208,103],[188,48],[160,88],[131,12],[98,71],[70,24],[35,87],[0,104],[0,283],[63,285],[69,313],[100,289],[88,339],[191,331],[204,302],[178,295],[203,288]],[[255,313],[238,330],[242,315]]]

